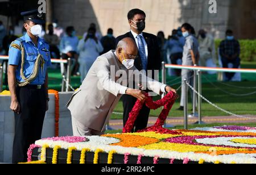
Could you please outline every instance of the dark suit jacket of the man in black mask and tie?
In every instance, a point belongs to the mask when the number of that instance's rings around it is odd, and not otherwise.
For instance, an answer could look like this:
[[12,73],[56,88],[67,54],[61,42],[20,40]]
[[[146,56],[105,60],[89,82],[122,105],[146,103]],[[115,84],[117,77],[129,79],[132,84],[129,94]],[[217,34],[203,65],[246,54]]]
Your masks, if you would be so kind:
[[[146,40],[148,50],[147,70],[160,70],[162,60],[160,57],[160,48],[156,36],[143,32],[143,37]],[[118,36],[118,38],[116,39],[117,43],[124,38],[132,38],[135,41],[133,34],[131,34],[131,32],[127,32],[125,35]],[[142,70],[141,57],[135,59],[134,65],[135,68],[137,68],[138,70]]]

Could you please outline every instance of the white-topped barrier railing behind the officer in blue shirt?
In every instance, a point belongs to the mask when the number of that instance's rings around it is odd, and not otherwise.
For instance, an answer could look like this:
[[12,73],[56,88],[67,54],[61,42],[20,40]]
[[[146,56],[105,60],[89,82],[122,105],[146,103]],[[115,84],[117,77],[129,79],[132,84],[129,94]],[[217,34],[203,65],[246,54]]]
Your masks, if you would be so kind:
[[[0,60],[9,60],[9,56],[2,56],[0,55]],[[57,64],[67,64],[67,73],[63,75],[63,81],[61,86],[61,91],[69,91],[71,88],[71,63],[72,60],[69,58],[68,60],[61,60],[61,59],[51,59],[52,63]],[[7,69],[7,68],[6,68]],[[3,90],[3,66],[0,67],[0,92]]]

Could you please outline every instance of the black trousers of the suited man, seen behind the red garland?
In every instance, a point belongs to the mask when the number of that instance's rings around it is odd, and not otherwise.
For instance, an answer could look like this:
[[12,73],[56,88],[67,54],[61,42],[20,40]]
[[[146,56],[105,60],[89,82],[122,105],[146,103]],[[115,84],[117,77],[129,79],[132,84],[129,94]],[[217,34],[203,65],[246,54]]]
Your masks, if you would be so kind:
[[[129,113],[133,109],[137,98],[134,98],[131,95],[123,95],[123,126],[125,126]],[[147,127],[148,116],[150,114],[150,109],[144,104],[141,111],[139,112],[137,119],[134,123],[135,132],[138,130],[143,130]]]

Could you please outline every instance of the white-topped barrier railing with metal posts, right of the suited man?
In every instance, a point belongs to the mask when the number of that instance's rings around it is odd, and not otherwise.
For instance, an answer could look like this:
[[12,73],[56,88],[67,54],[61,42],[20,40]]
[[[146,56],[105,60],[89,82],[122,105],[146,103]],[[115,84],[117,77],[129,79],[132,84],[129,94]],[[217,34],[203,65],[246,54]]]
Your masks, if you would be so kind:
[[[240,73],[256,73],[256,69],[233,69],[233,68],[208,68],[208,67],[202,67],[202,66],[184,66],[184,65],[174,65],[174,64],[166,64],[166,62],[162,62],[162,82],[163,84],[166,84],[166,68],[172,68],[172,69],[187,69],[187,70],[193,70],[194,71],[194,87],[193,87],[193,114],[196,113],[196,102],[195,102],[195,95],[197,94],[197,100],[198,100],[198,124],[203,124],[202,121],[202,115],[201,115],[201,91],[202,91],[202,83],[201,83],[201,72],[208,72],[208,71],[214,71],[214,72],[240,72]],[[197,82],[197,88],[196,88],[196,82]],[[183,90],[187,93],[185,94],[184,98],[184,129],[188,129],[188,85],[187,80],[181,80],[181,84],[184,84]],[[196,91],[197,89],[197,91]],[[229,113],[231,114],[231,113]],[[235,115],[236,116],[236,115]]]

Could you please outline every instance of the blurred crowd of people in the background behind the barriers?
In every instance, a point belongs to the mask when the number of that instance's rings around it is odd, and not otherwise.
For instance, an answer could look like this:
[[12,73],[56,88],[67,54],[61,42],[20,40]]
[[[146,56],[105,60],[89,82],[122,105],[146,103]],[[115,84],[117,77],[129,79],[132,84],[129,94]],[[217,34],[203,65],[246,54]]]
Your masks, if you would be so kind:
[[[191,26],[192,27],[192,26]],[[116,47],[116,39],[113,36],[113,29],[109,28],[107,35],[102,37],[101,32],[96,30],[96,24],[91,23],[88,31],[82,35],[79,40],[76,30],[73,26],[68,26],[65,30],[57,22],[49,24],[46,32],[42,32],[41,38],[49,43],[52,58],[75,59],[72,75],[80,75],[81,82],[86,77],[90,66],[102,55]],[[0,55],[8,55],[9,47],[12,41],[18,36],[14,35],[14,27],[10,26],[9,30],[3,26],[0,21]],[[198,51],[200,59],[195,64],[200,66],[216,67],[217,55],[214,44],[214,38],[207,31],[201,29],[196,34],[192,27],[191,33],[193,39],[198,42]],[[160,59],[170,64],[183,64],[183,51],[185,47],[186,36],[183,36],[181,27],[172,30],[172,34],[165,37],[163,31],[157,34],[158,46],[160,49]],[[240,44],[234,39],[233,31],[226,31],[226,39],[223,40],[218,48],[221,65],[229,68],[240,67]],[[170,76],[181,76],[181,70],[169,71]],[[232,80],[234,73],[225,73],[226,80]]]

